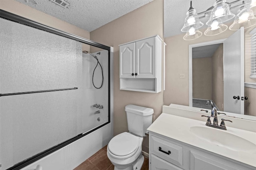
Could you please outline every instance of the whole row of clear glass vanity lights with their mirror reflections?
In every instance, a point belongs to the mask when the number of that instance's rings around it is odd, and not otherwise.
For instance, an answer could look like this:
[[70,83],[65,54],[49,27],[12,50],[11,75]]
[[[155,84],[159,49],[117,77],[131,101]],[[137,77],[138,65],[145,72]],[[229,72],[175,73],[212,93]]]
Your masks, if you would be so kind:
[[[185,23],[181,31],[186,32],[183,39],[192,40],[200,37],[202,33],[198,30],[203,23],[199,20],[204,17],[210,17],[206,22],[208,28],[204,35],[211,36],[220,34],[228,28],[224,22],[231,20],[235,16],[234,23],[230,25],[230,30],[238,30],[240,27],[248,28],[256,25],[256,0],[234,0],[234,2],[225,3],[226,0],[216,0],[214,5],[204,12],[196,14],[196,10],[192,7],[186,13]],[[240,3],[240,4],[239,4]],[[234,4],[238,4],[233,6]],[[238,14],[232,14],[230,9],[240,8]],[[198,18],[198,16],[204,14]]]

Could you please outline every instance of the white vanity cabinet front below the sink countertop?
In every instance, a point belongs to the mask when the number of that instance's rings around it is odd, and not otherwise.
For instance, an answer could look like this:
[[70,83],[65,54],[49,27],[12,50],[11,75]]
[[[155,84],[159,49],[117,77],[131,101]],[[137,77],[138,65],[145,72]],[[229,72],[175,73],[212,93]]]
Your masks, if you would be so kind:
[[[150,170],[254,170],[254,167],[149,132]],[[160,148],[161,149],[160,149]]]

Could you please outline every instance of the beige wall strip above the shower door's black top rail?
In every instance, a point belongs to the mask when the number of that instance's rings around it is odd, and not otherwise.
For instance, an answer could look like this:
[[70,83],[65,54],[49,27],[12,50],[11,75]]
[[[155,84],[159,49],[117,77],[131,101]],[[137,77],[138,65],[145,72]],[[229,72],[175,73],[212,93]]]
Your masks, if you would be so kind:
[[[0,0],[0,9],[42,23],[49,27],[71,33],[79,37],[90,39],[90,33],[88,31],[71,25],[70,23],[62,21],[43,12],[40,12],[38,10],[35,10],[15,0]],[[90,46],[83,44],[83,50],[90,50]]]

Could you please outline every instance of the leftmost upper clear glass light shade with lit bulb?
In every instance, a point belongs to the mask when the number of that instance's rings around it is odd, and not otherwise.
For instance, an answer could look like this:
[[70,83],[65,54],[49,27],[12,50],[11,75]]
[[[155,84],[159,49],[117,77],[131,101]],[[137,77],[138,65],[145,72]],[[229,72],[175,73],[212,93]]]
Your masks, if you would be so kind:
[[182,32],[188,32],[190,28],[193,26],[194,29],[199,29],[204,24],[199,20],[198,15],[196,14],[196,10],[194,8],[190,8],[186,13],[186,18],[184,25],[181,29]]

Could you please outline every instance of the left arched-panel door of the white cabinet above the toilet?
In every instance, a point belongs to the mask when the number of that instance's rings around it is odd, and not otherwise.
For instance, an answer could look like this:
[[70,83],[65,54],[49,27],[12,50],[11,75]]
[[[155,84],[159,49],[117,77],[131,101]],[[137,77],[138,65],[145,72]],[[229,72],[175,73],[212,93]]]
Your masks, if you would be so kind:
[[119,50],[120,78],[135,78],[135,43],[121,45]]

